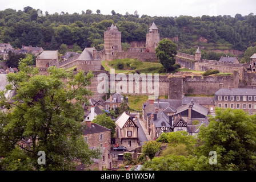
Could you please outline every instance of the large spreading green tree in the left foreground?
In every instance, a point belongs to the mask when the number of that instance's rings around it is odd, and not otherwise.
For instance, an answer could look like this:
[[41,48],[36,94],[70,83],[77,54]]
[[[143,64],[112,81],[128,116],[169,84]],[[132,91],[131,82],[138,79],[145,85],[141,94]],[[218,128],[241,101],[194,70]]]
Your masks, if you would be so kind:
[[[6,109],[0,112],[0,156],[5,159],[0,168],[71,170],[78,162],[91,164],[99,153],[83,140],[81,121],[93,74],[49,67],[49,76],[38,75],[38,69],[27,66],[32,61],[31,55],[21,60],[20,71],[6,76],[11,84],[0,92],[0,106]],[[16,93],[13,101],[5,97],[9,91]],[[30,147],[19,144],[24,138]],[[46,165],[38,164],[39,151],[45,152]]]

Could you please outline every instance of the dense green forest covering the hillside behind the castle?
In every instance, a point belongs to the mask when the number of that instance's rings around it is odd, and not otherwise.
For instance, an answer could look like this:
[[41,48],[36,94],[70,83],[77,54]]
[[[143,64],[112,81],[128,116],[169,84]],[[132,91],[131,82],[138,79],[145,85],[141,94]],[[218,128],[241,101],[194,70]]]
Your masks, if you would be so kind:
[[[179,49],[203,46],[205,48],[237,49],[256,46],[256,15],[139,16],[135,11],[125,15],[100,10],[82,13],[39,13],[30,6],[22,10],[0,11],[0,42],[14,48],[22,45],[59,49],[61,44],[78,49],[103,48],[103,32],[114,23],[122,32],[122,43],[146,40],[149,24],[155,22],[162,38],[176,38]],[[174,39],[173,39],[174,40]],[[174,40],[174,41],[175,41]]]

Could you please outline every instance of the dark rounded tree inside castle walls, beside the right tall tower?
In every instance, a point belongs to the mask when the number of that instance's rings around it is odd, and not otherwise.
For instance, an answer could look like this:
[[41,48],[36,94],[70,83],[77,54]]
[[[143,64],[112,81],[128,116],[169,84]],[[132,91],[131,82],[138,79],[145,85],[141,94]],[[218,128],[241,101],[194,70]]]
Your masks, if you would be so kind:
[[175,64],[175,55],[177,54],[177,44],[173,43],[169,39],[160,40],[158,47],[155,49],[157,58],[160,60],[160,63],[168,72],[169,69]]

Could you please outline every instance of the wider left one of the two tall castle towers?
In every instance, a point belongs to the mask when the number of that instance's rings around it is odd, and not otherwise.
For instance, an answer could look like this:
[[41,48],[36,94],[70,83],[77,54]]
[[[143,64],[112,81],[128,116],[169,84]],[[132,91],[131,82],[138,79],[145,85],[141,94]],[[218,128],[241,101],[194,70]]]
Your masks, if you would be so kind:
[[104,49],[106,53],[106,60],[114,59],[114,52],[121,52],[121,32],[118,31],[114,24],[107,28],[104,32]]

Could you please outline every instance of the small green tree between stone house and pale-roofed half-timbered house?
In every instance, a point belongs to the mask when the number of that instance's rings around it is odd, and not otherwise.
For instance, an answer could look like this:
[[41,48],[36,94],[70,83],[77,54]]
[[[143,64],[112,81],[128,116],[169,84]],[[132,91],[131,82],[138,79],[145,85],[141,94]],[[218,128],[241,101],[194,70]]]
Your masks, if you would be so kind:
[[114,137],[115,135],[115,122],[111,120],[111,118],[106,116],[106,113],[99,114],[96,116],[95,119],[93,119],[94,123],[97,123],[101,126],[106,127],[107,129],[111,130],[111,137]]

